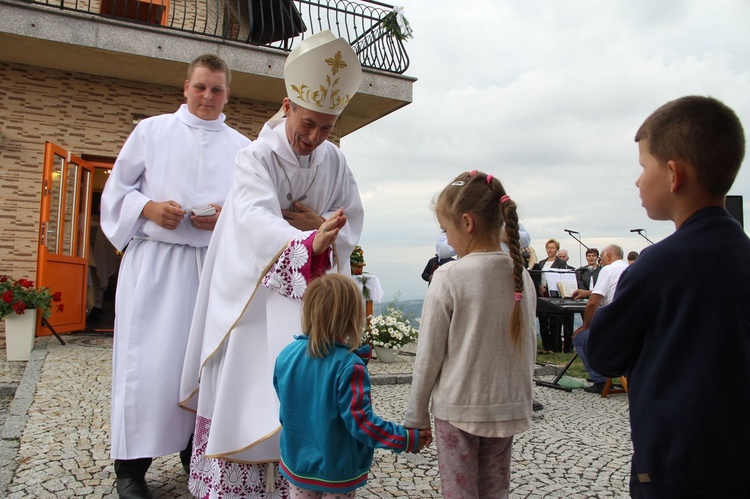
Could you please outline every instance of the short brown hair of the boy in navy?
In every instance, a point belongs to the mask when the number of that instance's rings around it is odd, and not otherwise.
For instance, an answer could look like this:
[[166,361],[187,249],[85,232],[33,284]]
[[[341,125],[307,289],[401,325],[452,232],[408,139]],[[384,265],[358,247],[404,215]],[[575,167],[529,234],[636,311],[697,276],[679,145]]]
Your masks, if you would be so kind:
[[690,95],[667,102],[646,118],[635,141],[648,141],[660,163],[681,159],[697,172],[709,194],[732,187],[745,156],[745,132],[737,115],[713,97]]

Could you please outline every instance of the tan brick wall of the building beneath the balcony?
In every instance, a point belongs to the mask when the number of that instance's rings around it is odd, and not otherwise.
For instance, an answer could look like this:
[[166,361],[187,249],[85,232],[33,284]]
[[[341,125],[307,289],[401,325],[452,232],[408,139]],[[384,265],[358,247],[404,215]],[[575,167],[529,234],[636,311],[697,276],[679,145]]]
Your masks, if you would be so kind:
[[[0,275],[36,281],[45,141],[114,158],[134,114],[174,112],[184,97],[182,88],[3,62],[0,81]],[[224,112],[229,126],[255,139],[279,106],[230,98]]]

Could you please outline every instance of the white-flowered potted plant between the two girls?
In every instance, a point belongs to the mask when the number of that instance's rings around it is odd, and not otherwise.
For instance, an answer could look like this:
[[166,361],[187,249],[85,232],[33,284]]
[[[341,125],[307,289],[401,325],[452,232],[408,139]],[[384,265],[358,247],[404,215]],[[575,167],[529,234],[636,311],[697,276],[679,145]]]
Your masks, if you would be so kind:
[[380,315],[368,317],[365,341],[375,349],[378,360],[393,362],[399,349],[416,341],[419,331],[411,325],[409,317],[395,303],[389,304]]

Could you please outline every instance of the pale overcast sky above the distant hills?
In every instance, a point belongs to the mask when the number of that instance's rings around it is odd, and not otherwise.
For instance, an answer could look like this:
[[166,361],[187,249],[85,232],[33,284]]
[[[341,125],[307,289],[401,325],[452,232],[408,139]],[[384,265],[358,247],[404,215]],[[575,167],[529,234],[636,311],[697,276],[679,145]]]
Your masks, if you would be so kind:
[[[711,95],[750,130],[746,0],[409,0],[414,102],[342,141],[365,206],[366,271],[402,299],[424,295],[433,197],[479,169],[504,184],[541,257],[559,240],[625,252],[674,231],[648,219],[633,141],[669,100]],[[747,135],[747,133],[746,133]],[[730,191],[750,217],[748,160]],[[746,224],[747,226],[747,224]],[[581,254],[579,258],[579,254]],[[720,258],[717,247],[717,258]]]

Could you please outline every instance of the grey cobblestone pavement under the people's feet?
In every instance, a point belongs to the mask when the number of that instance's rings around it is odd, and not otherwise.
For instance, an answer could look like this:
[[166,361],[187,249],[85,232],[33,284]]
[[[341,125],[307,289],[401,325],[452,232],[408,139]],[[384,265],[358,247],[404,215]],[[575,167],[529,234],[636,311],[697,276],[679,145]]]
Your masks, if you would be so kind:
[[[64,339],[65,346],[38,338],[29,362],[6,362],[0,350],[0,497],[116,497],[108,449],[112,336]],[[409,353],[370,363],[373,404],[384,418],[403,418]],[[534,397],[545,408],[516,436],[511,497],[627,497],[627,398],[545,387]],[[155,497],[190,497],[177,455],[157,458],[146,478]],[[357,497],[441,497],[435,444],[421,454],[376,450]]]

